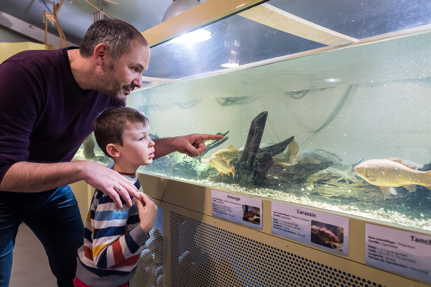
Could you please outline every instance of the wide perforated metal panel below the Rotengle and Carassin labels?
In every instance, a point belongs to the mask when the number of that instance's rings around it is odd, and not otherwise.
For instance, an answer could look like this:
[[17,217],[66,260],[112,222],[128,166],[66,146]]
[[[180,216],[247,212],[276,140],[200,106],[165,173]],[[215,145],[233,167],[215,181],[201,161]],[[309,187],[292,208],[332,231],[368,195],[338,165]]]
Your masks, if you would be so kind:
[[382,287],[230,231],[171,212],[172,287]]

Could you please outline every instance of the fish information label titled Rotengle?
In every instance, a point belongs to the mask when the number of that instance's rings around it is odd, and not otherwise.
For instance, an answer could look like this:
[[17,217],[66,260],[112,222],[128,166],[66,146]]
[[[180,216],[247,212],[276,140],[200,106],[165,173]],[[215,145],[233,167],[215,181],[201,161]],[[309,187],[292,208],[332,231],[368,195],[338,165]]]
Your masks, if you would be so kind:
[[262,229],[262,201],[211,189],[212,216]]

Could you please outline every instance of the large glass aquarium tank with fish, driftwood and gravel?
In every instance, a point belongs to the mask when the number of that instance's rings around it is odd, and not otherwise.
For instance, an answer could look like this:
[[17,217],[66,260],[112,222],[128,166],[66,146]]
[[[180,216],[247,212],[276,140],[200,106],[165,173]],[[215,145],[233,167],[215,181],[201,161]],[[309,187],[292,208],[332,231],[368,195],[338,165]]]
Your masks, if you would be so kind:
[[[151,47],[127,106],[149,117],[153,139],[225,138],[138,172],[431,231],[431,33],[408,30],[429,24],[431,8],[347,2],[266,4],[357,43],[328,46],[239,13]],[[108,164],[94,142],[75,158]]]

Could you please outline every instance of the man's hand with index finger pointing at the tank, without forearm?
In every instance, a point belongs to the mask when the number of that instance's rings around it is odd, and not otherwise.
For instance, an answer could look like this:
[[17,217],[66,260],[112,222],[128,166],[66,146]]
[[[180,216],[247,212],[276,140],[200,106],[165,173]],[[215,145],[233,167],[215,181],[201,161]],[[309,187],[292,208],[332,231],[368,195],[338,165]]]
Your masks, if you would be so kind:
[[193,133],[187,136],[177,136],[172,139],[172,147],[175,151],[187,154],[189,157],[198,157],[201,153],[206,151],[206,145],[203,141],[209,139],[223,139],[223,136]]

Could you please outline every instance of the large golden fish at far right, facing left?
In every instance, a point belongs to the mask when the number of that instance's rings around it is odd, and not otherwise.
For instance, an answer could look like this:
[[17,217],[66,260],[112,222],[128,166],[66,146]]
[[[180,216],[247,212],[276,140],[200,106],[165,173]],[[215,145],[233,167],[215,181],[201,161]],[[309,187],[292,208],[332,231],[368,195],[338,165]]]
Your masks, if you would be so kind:
[[416,191],[415,185],[431,187],[431,171],[414,170],[414,165],[402,158],[367,160],[355,167],[356,173],[372,185],[380,186],[385,198],[397,194],[394,187],[404,186],[410,192]]

